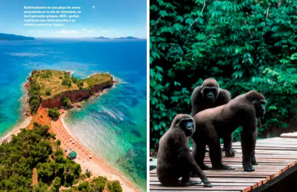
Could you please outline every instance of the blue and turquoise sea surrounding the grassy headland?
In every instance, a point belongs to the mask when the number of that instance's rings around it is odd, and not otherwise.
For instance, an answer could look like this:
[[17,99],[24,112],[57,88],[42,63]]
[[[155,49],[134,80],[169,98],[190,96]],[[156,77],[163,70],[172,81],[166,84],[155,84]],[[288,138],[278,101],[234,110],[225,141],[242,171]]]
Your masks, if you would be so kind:
[[110,72],[120,84],[70,110],[65,124],[85,146],[146,191],[146,40],[0,41],[0,137],[23,119],[23,84],[33,69],[85,78]]

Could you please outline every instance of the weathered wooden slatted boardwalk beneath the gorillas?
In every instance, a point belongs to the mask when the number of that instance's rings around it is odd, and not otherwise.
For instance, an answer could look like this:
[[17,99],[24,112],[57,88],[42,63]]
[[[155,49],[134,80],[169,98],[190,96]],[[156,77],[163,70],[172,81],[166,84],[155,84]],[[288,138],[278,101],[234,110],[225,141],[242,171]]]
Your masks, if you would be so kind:
[[[259,164],[254,165],[256,171],[253,172],[243,171],[241,143],[234,142],[233,147],[236,149],[235,157],[226,157],[223,152],[223,162],[236,167],[235,170],[205,170],[213,184],[212,188],[203,187],[203,183],[187,187],[165,187],[158,181],[156,169],[153,169],[150,171],[150,191],[262,191],[297,170],[297,132],[257,140],[256,159]],[[208,152],[205,161],[211,165]],[[201,181],[199,177],[192,179]]]

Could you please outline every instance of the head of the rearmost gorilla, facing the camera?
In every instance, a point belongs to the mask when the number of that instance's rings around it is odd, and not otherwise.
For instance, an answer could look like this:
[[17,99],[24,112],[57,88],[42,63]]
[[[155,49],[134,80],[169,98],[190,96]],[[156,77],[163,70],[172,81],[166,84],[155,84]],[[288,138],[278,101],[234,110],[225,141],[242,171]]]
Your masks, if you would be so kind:
[[201,94],[207,100],[214,102],[220,93],[219,84],[216,79],[207,78],[202,83]]

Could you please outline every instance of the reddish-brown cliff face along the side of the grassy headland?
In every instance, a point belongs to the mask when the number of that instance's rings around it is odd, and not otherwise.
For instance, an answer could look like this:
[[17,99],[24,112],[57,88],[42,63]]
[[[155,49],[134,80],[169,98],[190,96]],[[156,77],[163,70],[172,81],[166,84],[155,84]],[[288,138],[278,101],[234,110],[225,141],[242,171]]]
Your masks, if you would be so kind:
[[100,85],[94,85],[88,89],[83,89],[83,90],[73,90],[73,91],[65,91],[62,92],[60,95],[58,96],[54,96],[53,98],[48,98],[48,99],[42,99],[40,98],[41,101],[41,106],[42,107],[49,107],[49,108],[54,108],[54,107],[58,107],[60,108],[62,106],[61,103],[61,98],[62,97],[68,97],[71,102],[78,102],[81,101],[85,98],[90,97],[90,90],[92,90],[92,92],[96,93],[98,91],[101,91],[105,88],[110,88],[113,85],[113,81],[111,82],[106,82]]

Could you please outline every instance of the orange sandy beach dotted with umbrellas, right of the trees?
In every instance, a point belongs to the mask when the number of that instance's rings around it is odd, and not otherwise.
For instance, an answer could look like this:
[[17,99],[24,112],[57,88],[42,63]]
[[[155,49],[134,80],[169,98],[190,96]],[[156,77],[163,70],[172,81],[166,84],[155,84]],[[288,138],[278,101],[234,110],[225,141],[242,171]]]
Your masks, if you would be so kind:
[[[140,191],[132,182],[128,181],[128,179],[123,176],[117,169],[109,165],[105,160],[95,155],[93,152],[91,152],[87,147],[85,147],[81,142],[79,142],[71,133],[69,128],[66,126],[64,122],[64,117],[67,114],[67,112],[64,112],[57,121],[53,121],[53,131],[58,130],[58,128],[62,128],[65,130],[64,137],[61,137],[59,135],[59,138],[63,139],[61,142],[61,147],[67,147],[67,146],[73,146],[73,150],[79,151],[77,152],[77,158],[73,159],[76,163],[79,163],[81,165],[82,171],[85,172],[86,168],[89,168],[90,171],[95,174],[96,176],[106,176],[108,180],[119,180],[121,183],[121,186],[123,188],[123,191]],[[75,143],[72,144],[70,141],[70,138],[72,138],[72,141],[74,141],[77,144],[77,147],[75,146]],[[58,138],[57,138],[58,139]],[[79,147],[81,147],[79,149]],[[69,147],[67,147],[69,148]],[[82,153],[83,151],[83,153]],[[84,157],[81,157],[80,154]],[[86,155],[87,154],[87,155]],[[88,155],[92,155],[92,158],[90,159]],[[86,160],[88,159],[88,160]]]

